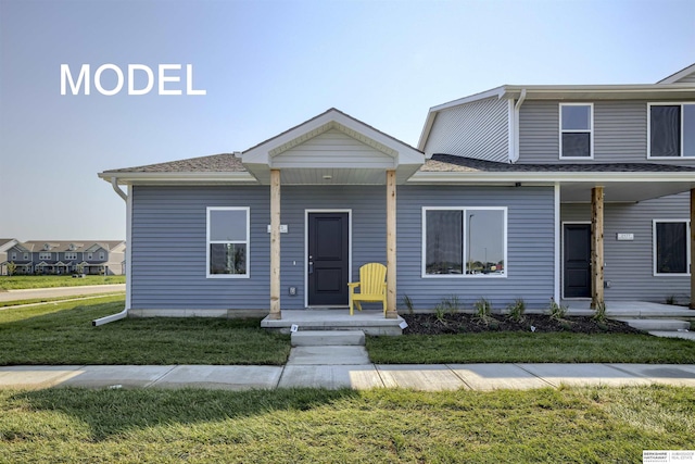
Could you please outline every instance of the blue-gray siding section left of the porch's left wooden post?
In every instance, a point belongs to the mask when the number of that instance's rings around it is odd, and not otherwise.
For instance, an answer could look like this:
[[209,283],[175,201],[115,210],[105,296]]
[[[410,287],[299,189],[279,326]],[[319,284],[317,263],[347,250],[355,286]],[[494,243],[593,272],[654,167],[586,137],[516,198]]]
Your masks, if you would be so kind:
[[[134,187],[131,309],[269,308],[267,187]],[[206,278],[207,206],[250,206],[249,278]]]

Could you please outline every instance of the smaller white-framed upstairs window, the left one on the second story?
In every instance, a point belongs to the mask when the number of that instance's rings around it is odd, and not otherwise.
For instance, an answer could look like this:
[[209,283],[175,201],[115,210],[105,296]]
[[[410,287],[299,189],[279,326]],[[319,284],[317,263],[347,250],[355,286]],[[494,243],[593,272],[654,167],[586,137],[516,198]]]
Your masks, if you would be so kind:
[[560,103],[560,158],[593,158],[593,103]]

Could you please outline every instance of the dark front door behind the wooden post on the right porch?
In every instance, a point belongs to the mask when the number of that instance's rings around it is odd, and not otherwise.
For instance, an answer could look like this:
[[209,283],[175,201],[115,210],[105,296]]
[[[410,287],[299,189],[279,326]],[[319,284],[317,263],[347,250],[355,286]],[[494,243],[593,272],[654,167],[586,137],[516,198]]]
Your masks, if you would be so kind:
[[565,224],[565,298],[591,298],[591,224]]

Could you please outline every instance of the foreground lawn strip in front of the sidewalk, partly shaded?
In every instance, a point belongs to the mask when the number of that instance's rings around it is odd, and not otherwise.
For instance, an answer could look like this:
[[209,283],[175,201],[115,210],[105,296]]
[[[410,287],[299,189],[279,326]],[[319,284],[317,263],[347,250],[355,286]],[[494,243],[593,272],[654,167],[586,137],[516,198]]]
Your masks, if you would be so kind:
[[641,462],[695,389],[0,391],[0,462]]

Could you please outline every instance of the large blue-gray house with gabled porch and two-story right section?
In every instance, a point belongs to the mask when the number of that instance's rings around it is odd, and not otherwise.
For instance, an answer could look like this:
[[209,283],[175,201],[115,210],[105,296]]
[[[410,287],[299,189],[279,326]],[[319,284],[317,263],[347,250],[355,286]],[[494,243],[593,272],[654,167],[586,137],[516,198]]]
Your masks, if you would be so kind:
[[432,108],[418,149],[331,109],[241,153],[100,173],[127,202],[126,309],[346,306],[368,262],[388,317],[405,296],[687,299],[694,80],[503,86]]

